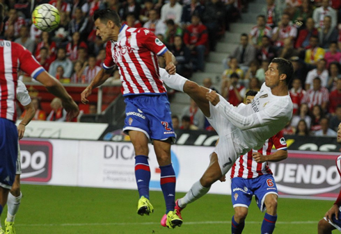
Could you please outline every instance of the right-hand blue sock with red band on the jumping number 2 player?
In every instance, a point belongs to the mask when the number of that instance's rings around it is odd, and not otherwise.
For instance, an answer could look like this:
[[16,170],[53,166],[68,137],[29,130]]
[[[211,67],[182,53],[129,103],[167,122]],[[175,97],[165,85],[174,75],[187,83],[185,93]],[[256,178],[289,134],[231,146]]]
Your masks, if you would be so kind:
[[161,169],[161,190],[164,193],[164,200],[166,201],[166,214],[175,207],[175,172],[173,166],[166,165],[160,167]]

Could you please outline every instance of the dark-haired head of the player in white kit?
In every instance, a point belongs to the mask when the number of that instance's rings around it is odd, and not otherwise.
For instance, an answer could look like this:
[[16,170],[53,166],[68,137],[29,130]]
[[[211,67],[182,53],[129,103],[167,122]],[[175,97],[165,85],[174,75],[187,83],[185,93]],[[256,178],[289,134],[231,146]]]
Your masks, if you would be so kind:
[[265,84],[268,87],[276,87],[280,83],[287,85],[294,74],[292,62],[285,58],[273,58],[267,72],[265,72]]

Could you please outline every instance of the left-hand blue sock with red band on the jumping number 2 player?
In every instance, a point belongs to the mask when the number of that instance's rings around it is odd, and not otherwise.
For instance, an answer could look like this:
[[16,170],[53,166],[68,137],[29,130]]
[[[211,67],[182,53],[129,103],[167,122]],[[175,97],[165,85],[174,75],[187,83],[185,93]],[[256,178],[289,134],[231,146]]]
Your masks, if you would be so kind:
[[140,197],[149,199],[150,167],[148,157],[138,155],[135,157],[135,178]]

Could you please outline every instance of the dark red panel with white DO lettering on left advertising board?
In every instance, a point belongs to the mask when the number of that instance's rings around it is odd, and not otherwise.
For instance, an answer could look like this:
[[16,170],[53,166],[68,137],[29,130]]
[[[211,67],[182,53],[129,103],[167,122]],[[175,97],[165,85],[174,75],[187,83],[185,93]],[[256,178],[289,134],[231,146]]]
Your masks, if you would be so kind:
[[48,141],[20,140],[22,181],[48,182],[52,175],[52,144]]

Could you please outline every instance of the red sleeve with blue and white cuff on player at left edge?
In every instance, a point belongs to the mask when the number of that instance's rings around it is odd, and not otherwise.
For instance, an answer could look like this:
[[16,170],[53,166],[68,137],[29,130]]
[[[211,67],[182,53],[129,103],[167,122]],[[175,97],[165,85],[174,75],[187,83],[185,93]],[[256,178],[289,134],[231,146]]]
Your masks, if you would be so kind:
[[45,69],[39,64],[33,57],[32,53],[20,44],[13,44],[15,53],[19,56],[19,68],[26,74],[31,75],[32,78],[36,79],[37,76],[44,72]]

